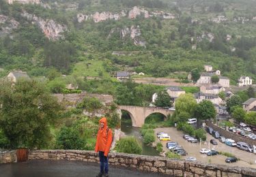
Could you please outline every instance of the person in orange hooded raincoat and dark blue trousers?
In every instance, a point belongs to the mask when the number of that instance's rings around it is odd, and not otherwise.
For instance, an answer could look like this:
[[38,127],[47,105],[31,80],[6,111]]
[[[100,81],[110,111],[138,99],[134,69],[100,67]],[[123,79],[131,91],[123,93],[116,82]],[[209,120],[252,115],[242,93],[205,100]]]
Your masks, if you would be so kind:
[[102,117],[99,120],[100,127],[97,134],[97,141],[95,146],[95,152],[99,152],[100,157],[100,173],[97,177],[109,176],[109,161],[108,154],[111,148],[113,136],[112,130],[107,126],[107,120]]

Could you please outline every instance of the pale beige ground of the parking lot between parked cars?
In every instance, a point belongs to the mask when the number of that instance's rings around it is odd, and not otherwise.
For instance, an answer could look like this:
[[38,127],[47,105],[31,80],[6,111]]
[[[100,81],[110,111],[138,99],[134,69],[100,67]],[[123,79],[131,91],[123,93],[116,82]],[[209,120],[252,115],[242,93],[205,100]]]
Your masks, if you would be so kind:
[[[209,157],[207,155],[201,154],[199,152],[199,150],[201,148],[209,148],[208,147],[209,144],[201,144],[201,147],[200,147],[200,143],[190,143],[182,138],[184,133],[182,131],[177,131],[177,129],[175,127],[157,128],[157,129],[155,129],[155,134],[160,131],[164,131],[165,133],[168,133],[171,137],[171,141],[177,142],[186,150],[186,152],[188,152],[188,155],[182,157],[182,159],[186,159],[186,157],[191,156],[191,157],[196,157],[197,161],[203,161],[206,163],[218,163],[218,164],[225,164],[225,165],[232,165],[232,166],[256,168],[256,163],[255,163],[256,155],[253,154],[252,152],[246,152],[244,150],[239,150],[236,147],[227,146],[226,144],[221,143],[218,140],[216,140],[216,142],[218,142],[218,145],[214,146],[214,145],[210,144],[210,149],[214,148],[214,150],[217,150],[217,151],[230,152],[240,159],[240,161],[238,161],[236,163],[225,163],[225,159],[227,157],[225,157],[223,155],[215,155],[215,156]],[[158,138],[156,138],[156,139],[157,139],[156,140],[157,142],[160,142],[160,140],[158,140]],[[212,135],[207,133],[207,142],[209,142],[212,139],[214,139],[212,137]],[[164,141],[161,143],[163,146],[163,150],[165,150],[165,152],[168,152],[169,149],[167,149],[167,147],[166,147],[167,142]]]

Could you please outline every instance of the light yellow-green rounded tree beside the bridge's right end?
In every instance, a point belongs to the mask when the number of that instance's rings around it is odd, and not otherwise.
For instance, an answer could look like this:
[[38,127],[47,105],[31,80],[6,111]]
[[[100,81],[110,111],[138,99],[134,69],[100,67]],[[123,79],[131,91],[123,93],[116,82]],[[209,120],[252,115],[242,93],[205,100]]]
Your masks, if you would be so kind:
[[195,108],[197,107],[197,101],[190,93],[182,94],[175,101],[175,112],[180,114],[181,112],[187,112],[190,116],[194,116]]

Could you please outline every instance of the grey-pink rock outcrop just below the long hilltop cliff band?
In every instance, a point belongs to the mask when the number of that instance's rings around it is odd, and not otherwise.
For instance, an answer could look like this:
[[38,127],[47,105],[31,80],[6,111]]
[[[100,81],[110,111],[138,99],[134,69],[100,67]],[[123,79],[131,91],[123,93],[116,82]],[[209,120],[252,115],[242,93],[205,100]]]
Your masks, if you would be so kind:
[[124,27],[123,29],[121,28],[111,29],[108,38],[111,37],[113,33],[120,33],[120,37],[122,39],[125,39],[126,37],[130,37],[131,39],[133,39],[133,43],[136,46],[145,47],[145,44],[147,44],[145,40],[141,37],[141,29],[139,28],[139,25],[137,27],[132,25],[131,27]]

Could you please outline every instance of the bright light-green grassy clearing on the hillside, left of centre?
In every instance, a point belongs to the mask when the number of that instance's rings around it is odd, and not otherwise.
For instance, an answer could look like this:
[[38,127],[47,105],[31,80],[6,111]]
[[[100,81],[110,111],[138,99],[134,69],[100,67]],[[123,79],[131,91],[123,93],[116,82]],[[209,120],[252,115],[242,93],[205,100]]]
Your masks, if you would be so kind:
[[74,65],[72,76],[110,77],[103,67],[103,61],[82,61]]

